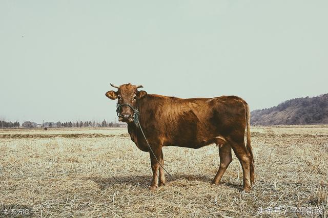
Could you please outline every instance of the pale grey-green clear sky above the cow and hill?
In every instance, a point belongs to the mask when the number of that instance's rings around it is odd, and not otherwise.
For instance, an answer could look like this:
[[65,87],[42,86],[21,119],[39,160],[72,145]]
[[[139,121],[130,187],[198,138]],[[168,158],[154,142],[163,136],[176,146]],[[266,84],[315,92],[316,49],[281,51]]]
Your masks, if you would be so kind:
[[328,93],[328,1],[0,1],[0,118],[117,121],[110,83],[251,110]]

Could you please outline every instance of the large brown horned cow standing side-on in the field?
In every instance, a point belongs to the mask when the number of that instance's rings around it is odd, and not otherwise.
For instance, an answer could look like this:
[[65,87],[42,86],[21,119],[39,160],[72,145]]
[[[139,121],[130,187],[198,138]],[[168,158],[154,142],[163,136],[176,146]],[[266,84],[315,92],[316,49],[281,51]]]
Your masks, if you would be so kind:
[[[190,98],[147,94],[138,91],[142,85],[123,84],[118,90],[108,91],[106,96],[118,99],[118,104],[130,104],[140,113],[139,122],[156,158],[163,166],[162,146],[200,148],[212,143],[219,146],[220,167],[213,180],[220,182],[232,161],[231,148],[243,170],[243,190],[249,192],[254,184],[254,160],[251,147],[250,110],[248,104],[237,96],[215,98]],[[135,124],[134,111],[128,105],[118,107],[119,121],[128,123],[131,140],[142,151],[149,152],[140,128]],[[247,128],[247,145],[244,142]],[[223,145],[223,146],[222,146]],[[153,180],[151,190],[165,185],[165,175],[156,158],[150,152]]]

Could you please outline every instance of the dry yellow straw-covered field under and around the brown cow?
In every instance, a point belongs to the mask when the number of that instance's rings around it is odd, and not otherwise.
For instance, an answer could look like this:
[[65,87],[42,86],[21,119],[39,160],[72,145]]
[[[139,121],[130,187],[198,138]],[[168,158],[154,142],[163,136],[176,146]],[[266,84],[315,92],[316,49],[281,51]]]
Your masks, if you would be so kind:
[[37,217],[328,216],[328,126],[251,130],[256,184],[244,193],[234,155],[211,184],[215,145],[163,148],[166,169],[193,185],[167,175],[152,192],[149,153],[127,129],[0,129],[0,207],[28,207]]

